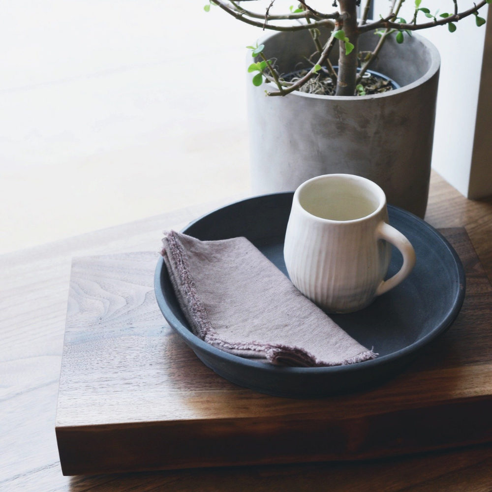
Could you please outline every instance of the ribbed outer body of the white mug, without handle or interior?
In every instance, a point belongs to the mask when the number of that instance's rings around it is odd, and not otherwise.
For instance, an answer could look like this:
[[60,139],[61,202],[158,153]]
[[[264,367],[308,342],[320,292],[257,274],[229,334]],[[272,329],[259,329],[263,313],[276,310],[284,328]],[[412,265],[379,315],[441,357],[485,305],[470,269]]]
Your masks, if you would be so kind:
[[378,238],[381,221],[388,222],[385,200],[368,217],[335,221],[307,213],[295,197],[284,246],[292,283],[330,312],[368,306],[391,257],[391,246]]

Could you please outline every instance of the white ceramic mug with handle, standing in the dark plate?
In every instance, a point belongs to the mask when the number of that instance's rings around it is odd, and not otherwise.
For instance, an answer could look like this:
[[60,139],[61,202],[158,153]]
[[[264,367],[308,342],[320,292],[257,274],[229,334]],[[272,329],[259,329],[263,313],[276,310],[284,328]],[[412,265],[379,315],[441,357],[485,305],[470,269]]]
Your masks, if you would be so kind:
[[[384,281],[395,245],[403,266]],[[326,174],[301,184],[285,235],[292,283],[330,312],[362,309],[398,285],[415,265],[415,251],[388,224],[384,191],[351,174]]]

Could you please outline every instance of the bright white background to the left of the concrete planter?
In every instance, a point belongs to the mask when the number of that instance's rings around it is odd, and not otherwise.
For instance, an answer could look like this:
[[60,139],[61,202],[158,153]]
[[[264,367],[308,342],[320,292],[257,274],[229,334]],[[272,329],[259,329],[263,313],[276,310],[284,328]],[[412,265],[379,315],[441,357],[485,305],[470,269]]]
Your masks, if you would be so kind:
[[249,190],[261,30],[207,1],[2,2],[0,252]]

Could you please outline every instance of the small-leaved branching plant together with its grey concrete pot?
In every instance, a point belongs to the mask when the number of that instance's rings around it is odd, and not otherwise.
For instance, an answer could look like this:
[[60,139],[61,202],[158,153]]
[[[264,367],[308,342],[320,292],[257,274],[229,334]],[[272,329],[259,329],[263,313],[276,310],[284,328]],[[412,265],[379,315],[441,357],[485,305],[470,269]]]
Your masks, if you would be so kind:
[[[249,46],[248,117],[255,193],[294,190],[317,175],[351,173],[385,191],[388,202],[421,217],[427,207],[440,57],[416,31],[456,31],[456,23],[492,0],[432,13],[414,1],[413,18],[361,18],[361,0],[335,0],[320,12],[304,0],[289,13],[249,8],[254,0],[213,0],[236,19],[274,31]],[[328,2],[331,5],[331,1]],[[205,10],[210,10],[206,5]],[[295,21],[285,24],[284,21]]]

